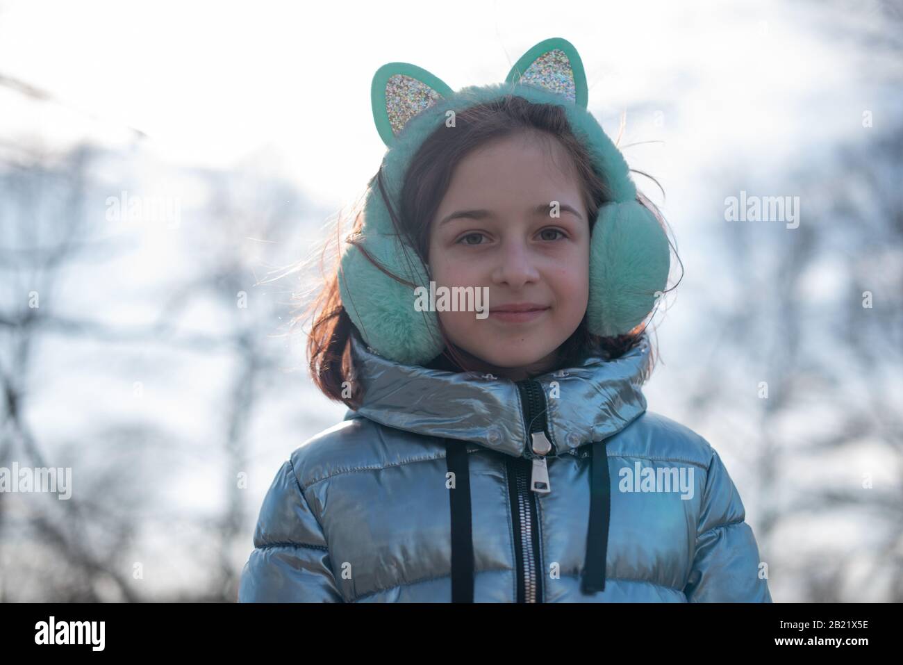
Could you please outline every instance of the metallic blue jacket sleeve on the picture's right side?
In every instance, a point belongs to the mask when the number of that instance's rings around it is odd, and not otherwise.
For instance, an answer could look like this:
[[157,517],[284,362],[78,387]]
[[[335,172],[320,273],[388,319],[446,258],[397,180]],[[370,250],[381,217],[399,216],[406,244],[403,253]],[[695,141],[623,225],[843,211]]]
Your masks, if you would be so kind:
[[759,578],[759,546],[740,494],[718,453],[705,478],[693,566],[684,595],[690,603],[771,603]]

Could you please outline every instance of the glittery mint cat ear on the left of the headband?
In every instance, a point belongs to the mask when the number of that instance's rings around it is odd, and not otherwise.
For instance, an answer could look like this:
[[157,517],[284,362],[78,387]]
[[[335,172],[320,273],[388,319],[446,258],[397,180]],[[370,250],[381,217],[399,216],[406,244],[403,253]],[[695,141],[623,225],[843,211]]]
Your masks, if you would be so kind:
[[408,120],[452,94],[444,81],[416,65],[389,62],[380,67],[373,75],[370,101],[383,143],[395,145]]

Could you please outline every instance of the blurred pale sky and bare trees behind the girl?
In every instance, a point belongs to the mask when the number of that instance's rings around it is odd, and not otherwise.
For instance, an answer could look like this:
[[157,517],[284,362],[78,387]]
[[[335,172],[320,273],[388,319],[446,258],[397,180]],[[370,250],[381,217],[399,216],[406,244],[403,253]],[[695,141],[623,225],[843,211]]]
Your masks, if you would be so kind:
[[280,464],[346,411],[288,323],[384,154],[374,71],[500,82],[553,36],[683,262],[649,409],[721,454],[776,602],[903,601],[903,4],[875,0],[0,0],[0,467],[71,469],[66,500],[0,492],[0,601],[236,599]]

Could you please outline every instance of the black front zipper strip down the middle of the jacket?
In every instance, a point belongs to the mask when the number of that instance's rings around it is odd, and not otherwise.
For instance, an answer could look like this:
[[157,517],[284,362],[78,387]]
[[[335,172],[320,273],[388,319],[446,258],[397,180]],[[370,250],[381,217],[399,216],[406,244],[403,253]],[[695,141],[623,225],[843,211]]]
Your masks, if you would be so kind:
[[[534,379],[516,382],[524,407],[526,425],[526,449],[528,457],[508,457],[507,482],[511,501],[511,516],[514,526],[515,557],[517,559],[517,602],[543,602],[543,569],[539,556],[539,518],[536,509],[535,492],[530,489],[530,474],[533,469],[531,435],[545,432],[545,391]],[[545,455],[554,455],[552,451]]]

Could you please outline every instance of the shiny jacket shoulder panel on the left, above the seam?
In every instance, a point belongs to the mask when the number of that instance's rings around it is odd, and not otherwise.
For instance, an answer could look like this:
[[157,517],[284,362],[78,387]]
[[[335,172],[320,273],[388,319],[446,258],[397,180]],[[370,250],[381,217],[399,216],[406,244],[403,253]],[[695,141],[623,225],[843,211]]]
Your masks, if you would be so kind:
[[368,417],[348,416],[294,449],[298,482],[307,488],[339,473],[435,459],[445,454],[442,441],[381,425]]

